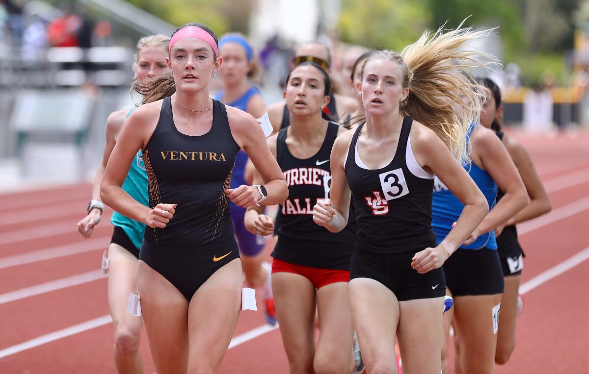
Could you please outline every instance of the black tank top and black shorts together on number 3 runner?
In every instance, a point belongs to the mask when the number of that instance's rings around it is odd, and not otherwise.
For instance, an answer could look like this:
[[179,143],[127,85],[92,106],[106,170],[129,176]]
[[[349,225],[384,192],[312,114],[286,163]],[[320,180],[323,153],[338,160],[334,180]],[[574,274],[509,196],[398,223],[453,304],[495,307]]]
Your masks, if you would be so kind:
[[411,117],[403,119],[394,158],[376,170],[358,165],[358,136],[365,124],[358,126],[345,163],[358,221],[350,279],[375,279],[399,301],[442,297],[446,289],[442,268],[419,274],[410,266],[416,252],[436,246],[431,226],[434,179],[416,176],[419,171],[410,170],[406,161],[412,122]]

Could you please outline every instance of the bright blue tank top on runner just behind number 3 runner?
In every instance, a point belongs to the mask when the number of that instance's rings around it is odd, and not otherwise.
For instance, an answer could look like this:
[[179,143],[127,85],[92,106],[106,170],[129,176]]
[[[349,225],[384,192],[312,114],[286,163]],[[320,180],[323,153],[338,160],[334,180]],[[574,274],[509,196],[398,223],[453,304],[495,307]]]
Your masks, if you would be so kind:
[[[475,126],[472,126],[468,132],[468,137],[474,130]],[[468,138],[467,138],[468,143]],[[491,175],[487,171],[479,168],[474,162],[464,165],[464,169],[471,176],[472,180],[477,184],[482,194],[485,195],[487,203],[489,204],[489,210],[495,206],[497,198],[497,183],[491,178]],[[444,240],[452,229],[452,224],[458,221],[459,216],[464,209],[464,205],[448,190],[448,188],[435,177],[434,181],[434,199],[432,201],[432,228],[437,236],[438,244]],[[491,230],[484,235],[477,238],[474,243],[469,245],[461,245],[460,249],[481,249],[487,248],[496,250],[497,241],[495,241],[495,232]]]

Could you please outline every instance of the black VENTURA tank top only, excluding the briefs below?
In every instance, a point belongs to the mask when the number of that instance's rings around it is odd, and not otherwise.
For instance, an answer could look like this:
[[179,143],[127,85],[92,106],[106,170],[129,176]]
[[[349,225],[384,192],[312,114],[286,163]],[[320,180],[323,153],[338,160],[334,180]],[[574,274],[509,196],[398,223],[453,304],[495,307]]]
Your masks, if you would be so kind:
[[145,241],[194,248],[233,238],[229,198],[223,189],[230,188],[239,149],[222,103],[213,100],[210,131],[190,136],[178,131],[170,97],[164,98],[143,159],[151,208],[158,203],[178,206],[166,228],[145,230]]

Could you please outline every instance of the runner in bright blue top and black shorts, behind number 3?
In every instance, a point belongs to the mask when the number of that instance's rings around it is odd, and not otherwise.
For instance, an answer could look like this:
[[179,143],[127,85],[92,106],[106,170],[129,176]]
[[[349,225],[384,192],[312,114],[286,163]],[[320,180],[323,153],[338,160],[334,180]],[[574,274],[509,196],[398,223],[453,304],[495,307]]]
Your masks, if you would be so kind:
[[[485,88],[480,87],[479,91],[488,94]],[[499,308],[504,290],[493,229],[524,208],[527,195],[514,163],[492,131],[472,125],[466,141],[471,162],[464,168],[485,195],[491,211],[444,263],[446,286],[448,294],[454,298],[454,309],[444,317],[442,369],[444,373],[448,372],[452,322],[456,372],[490,373],[494,369]],[[505,191],[505,196],[495,205],[497,186]],[[439,242],[459,218],[462,203],[443,182],[436,180],[433,206],[432,226]]]

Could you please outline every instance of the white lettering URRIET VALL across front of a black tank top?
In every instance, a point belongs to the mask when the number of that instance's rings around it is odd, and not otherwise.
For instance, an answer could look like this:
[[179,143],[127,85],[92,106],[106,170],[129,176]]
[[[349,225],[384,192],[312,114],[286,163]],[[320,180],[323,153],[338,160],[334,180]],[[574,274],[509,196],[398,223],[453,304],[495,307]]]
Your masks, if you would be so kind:
[[319,168],[293,168],[284,171],[284,179],[286,184],[290,186],[310,185],[323,186],[323,197],[316,198],[312,202],[312,198],[303,199],[286,199],[282,204],[282,214],[313,214],[313,206],[317,201],[329,198],[329,189],[331,186],[331,173],[325,169]]

